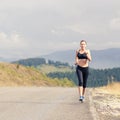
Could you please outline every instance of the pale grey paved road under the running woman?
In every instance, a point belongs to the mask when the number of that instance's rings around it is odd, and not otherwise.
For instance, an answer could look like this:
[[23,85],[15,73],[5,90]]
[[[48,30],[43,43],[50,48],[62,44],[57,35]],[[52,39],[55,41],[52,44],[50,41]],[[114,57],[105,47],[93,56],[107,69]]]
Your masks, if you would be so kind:
[[0,120],[95,120],[86,93],[80,103],[77,88],[0,88]]

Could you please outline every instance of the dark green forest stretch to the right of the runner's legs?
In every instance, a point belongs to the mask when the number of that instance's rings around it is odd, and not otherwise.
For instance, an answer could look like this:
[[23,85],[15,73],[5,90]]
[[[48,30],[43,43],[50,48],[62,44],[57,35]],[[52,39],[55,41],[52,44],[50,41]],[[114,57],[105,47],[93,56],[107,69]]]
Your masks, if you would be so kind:
[[91,87],[104,86],[108,82],[119,81],[120,82],[120,68],[112,69],[90,69],[88,84]]

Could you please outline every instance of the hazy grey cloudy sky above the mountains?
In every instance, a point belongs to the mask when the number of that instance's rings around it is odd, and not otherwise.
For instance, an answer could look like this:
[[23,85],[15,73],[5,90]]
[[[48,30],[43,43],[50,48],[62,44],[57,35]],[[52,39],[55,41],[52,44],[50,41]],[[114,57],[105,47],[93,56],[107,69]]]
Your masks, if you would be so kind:
[[0,57],[120,47],[120,0],[0,0]]

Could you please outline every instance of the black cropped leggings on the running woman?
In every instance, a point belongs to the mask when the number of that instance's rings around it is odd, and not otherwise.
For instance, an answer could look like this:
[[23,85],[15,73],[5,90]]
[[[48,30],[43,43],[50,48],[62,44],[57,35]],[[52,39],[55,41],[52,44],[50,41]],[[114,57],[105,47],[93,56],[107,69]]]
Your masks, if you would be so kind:
[[86,88],[89,68],[77,66],[76,73],[78,77],[78,86],[83,86],[83,88]]

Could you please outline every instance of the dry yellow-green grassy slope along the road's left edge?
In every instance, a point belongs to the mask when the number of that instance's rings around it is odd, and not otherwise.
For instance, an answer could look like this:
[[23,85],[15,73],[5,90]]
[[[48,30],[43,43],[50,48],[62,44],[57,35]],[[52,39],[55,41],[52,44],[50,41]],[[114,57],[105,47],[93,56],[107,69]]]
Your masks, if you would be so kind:
[[74,86],[74,83],[49,78],[34,67],[0,63],[0,86]]

